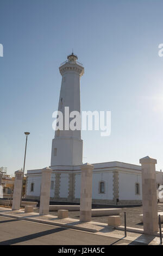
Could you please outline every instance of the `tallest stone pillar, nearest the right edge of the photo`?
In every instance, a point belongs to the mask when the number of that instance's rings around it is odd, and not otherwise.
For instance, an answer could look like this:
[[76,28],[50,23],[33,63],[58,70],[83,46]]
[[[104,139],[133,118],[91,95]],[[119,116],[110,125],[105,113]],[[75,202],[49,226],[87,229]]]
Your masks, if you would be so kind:
[[158,232],[158,204],[156,195],[155,164],[149,156],[140,159],[142,171],[143,229],[145,234]]

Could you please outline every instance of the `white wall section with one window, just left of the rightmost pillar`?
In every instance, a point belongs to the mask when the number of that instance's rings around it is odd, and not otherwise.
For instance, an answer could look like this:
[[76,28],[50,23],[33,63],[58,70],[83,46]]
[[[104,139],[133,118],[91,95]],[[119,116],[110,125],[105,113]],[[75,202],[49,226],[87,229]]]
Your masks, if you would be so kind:
[[[135,182],[140,184],[140,195],[135,194]],[[142,200],[141,175],[119,172],[119,199]]]

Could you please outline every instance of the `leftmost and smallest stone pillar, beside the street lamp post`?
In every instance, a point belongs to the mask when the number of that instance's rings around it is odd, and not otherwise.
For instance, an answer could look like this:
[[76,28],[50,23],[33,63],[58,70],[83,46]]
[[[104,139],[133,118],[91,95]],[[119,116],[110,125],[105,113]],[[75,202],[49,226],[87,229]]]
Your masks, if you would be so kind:
[[21,196],[22,196],[22,180],[23,180],[23,171],[17,170],[15,172],[15,181],[14,181],[14,194],[12,200],[12,211],[20,210]]

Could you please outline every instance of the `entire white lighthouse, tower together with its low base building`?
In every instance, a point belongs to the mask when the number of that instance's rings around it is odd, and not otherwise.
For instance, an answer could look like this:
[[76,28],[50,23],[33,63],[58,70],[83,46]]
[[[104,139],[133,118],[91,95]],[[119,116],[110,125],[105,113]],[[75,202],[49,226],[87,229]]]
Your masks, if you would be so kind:
[[[62,76],[58,110],[65,116],[65,107],[70,112],[80,112],[80,77],[83,65],[73,53],[62,63]],[[51,201],[80,202],[80,166],[83,141],[78,130],[58,130],[52,141]],[[92,203],[115,205],[141,204],[141,166],[123,162],[93,163]],[[163,173],[156,172],[158,184],[163,184]],[[41,169],[28,170],[26,198],[40,199]]]

